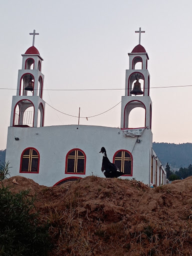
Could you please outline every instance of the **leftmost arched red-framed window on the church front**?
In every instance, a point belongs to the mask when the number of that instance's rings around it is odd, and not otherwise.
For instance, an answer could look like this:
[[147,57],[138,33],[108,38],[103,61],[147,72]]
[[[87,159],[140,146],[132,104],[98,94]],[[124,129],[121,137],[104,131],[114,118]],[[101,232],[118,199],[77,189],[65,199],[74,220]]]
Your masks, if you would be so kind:
[[39,153],[35,148],[26,148],[20,159],[20,172],[38,173]]

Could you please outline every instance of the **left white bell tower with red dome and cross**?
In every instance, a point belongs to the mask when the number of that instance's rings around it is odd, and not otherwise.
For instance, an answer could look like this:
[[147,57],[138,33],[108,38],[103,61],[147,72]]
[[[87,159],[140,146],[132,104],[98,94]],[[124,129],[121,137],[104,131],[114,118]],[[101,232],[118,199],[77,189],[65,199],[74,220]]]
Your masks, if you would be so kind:
[[32,46],[22,56],[22,69],[18,70],[16,96],[12,97],[10,126],[38,127],[44,124],[45,102],[42,100],[44,75],[41,73],[42,57]]

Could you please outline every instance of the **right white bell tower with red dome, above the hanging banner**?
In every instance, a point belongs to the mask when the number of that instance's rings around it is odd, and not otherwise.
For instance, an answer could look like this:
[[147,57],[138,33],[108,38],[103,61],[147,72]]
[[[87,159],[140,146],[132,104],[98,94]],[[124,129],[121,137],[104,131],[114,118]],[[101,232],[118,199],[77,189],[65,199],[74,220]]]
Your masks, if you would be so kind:
[[[150,75],[147,70],[148,54],[140,44],[140,34],[144,31],[135,31],[139,33],[139,44],[136,45],[129,56],[129,69],[125,73],[125,95],[121,100],[121,128],[132,128],[128,126],[130,111],[135,107],[142,107],[145,110],[144,126],[151,129],[151,110],[152,102],[149,96]],[[135,69],[139,63],[141,69]],[[143,88],[141,88],[141,80]]]

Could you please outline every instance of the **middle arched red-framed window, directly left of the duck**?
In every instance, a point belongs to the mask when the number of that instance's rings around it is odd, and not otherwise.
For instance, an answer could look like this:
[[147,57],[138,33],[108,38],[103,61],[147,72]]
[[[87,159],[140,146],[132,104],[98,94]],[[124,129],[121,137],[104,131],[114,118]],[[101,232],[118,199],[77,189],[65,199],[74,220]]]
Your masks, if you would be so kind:
[[85,174],[85,153],[76,148],[70,150],[66,155],[65,173]]

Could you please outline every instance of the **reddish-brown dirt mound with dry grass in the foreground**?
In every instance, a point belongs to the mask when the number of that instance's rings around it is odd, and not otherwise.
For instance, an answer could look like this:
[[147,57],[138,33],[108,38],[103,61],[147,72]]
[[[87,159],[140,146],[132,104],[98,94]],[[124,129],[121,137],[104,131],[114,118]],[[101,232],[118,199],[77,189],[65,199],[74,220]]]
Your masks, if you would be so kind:
[[50,223],[51,256],[192,255],[192,177],[154,188],[96,176],[55,187],[20,176],[3,183],[35,195]]

